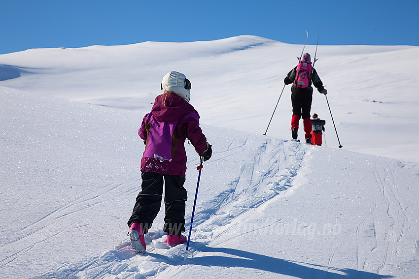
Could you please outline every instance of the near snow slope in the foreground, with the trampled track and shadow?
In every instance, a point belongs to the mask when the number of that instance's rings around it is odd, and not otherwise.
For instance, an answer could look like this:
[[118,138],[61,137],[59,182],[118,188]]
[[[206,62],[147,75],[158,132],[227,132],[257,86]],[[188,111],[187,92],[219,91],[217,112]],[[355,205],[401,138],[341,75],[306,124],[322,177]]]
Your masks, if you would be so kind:
[[[13,112],[1,118],[8,170],[1,274],[9,278],[418,272],[416,164],[203,125],[216,148],[203,169],[194,258],[183,263],[182,247],[159,245],[162,216],[146,237],[147,255],[136,256],[125,222],[140,185],[140,115],[21,93],[1,97],[1,111]],[[198,160],[190,147],[188,154],[191,197]]]

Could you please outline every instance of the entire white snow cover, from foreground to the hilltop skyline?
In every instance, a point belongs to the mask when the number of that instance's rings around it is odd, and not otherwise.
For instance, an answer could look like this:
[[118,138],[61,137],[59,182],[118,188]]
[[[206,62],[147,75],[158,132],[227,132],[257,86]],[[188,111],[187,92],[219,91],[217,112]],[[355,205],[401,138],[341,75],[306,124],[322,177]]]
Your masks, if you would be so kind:
[[[342,149],[316,91],[326,144],[289,140],[290,86],[263,135],[301,50],[238,36],[0,55],[1,277],[418,278],[419,48],[318,47]],[[145,256],[126,236],[138,128],[171,70],[191,80],[213,145],[190,259],[160,243],[163,209]],[[199,158],[185,146],[187,235]]]

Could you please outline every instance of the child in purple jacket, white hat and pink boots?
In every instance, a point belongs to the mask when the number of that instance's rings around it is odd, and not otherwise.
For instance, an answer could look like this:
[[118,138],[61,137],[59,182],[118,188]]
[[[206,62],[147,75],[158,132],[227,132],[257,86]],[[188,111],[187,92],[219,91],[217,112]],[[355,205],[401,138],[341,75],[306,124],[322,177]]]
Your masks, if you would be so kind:
[[150,229],[162,201],[165,188],[163,230],[167,244],[185,243],[185,183],[186,138],[203,161],[212,155],[211,145],[199,126],[199,115],[189,104],[191,83],[185,75],[171,71],[163,77],[163,94],[156,97],[151,112],[146,114],[139,129],[145,150],[141,158],[141,191],[128,220],[131,246],[145,254],[144,234]]

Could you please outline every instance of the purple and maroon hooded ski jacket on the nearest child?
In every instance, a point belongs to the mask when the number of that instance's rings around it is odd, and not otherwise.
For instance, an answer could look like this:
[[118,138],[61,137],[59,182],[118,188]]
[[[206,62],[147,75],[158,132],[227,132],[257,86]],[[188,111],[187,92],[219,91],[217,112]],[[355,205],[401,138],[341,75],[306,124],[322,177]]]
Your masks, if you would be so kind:
[[175,93],[165,92],[156,97],[138,134],[146,142],[141,158],[141,171],[145,172],[185,176],[186,138],[198,154],[207,150],[198,112]]

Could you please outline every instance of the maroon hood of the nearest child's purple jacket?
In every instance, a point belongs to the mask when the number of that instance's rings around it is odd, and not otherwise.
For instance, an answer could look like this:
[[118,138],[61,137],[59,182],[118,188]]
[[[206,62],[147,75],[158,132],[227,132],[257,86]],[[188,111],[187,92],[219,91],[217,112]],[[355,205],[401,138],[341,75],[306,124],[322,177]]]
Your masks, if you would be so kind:
[[191,104],[177,94],[169,92],[158,95],[151,109],[151,113],[158,122],[176,121],[191,112],[198,115]]

